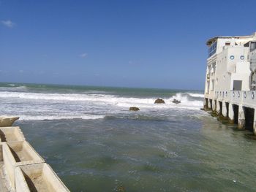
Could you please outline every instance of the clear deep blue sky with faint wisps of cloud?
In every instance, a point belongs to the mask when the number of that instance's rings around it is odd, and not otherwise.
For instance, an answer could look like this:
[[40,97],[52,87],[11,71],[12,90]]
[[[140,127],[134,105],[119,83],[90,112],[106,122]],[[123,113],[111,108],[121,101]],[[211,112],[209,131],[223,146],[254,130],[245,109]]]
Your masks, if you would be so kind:
[[203,89],[206,40],[256,1],[0,1],[0,81]]

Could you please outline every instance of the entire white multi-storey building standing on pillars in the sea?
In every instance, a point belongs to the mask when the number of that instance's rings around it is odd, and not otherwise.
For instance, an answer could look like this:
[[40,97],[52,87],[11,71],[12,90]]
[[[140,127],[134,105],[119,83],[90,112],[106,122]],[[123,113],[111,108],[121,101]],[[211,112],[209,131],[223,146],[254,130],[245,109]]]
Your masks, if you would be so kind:
[[206,42],[204,108],[256,134],[256,33]]

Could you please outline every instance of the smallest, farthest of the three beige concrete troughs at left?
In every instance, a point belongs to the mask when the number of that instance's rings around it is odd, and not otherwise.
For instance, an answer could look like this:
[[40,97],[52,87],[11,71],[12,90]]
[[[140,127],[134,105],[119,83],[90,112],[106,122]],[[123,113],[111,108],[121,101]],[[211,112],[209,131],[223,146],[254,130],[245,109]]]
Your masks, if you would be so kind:
[[24,141],[20,127],[0,127],[0,142]]

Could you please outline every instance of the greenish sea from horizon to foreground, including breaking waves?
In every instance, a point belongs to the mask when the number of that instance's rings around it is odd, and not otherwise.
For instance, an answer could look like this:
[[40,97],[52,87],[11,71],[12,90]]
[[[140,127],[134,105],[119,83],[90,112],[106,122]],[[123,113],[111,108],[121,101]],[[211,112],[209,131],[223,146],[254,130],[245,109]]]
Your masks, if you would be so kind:
[[255,191],[256,140],[202,91],[0,83],[0,101],[70,191]]

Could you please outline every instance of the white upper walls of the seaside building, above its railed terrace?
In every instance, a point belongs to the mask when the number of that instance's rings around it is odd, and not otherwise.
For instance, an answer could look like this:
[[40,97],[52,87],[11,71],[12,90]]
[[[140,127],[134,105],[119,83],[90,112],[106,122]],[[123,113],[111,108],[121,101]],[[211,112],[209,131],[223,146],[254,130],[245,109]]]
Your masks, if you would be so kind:
[[214,37],[208,40],[206,98],[214,99],[216,91],[249,91],[249,42],[254,37]]

